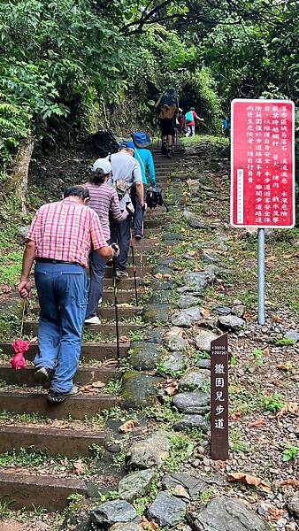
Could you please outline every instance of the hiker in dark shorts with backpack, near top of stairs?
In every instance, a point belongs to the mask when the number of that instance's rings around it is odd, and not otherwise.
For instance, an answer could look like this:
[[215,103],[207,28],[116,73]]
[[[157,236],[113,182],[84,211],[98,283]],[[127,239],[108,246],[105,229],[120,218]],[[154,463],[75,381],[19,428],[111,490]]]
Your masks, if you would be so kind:
[[157,100],[159,127],[162,135],[162,153],[171,158],[173,155],[173,138],[175,135],[175,120],[179,109],[178,96],[175,89],[166,90]]

